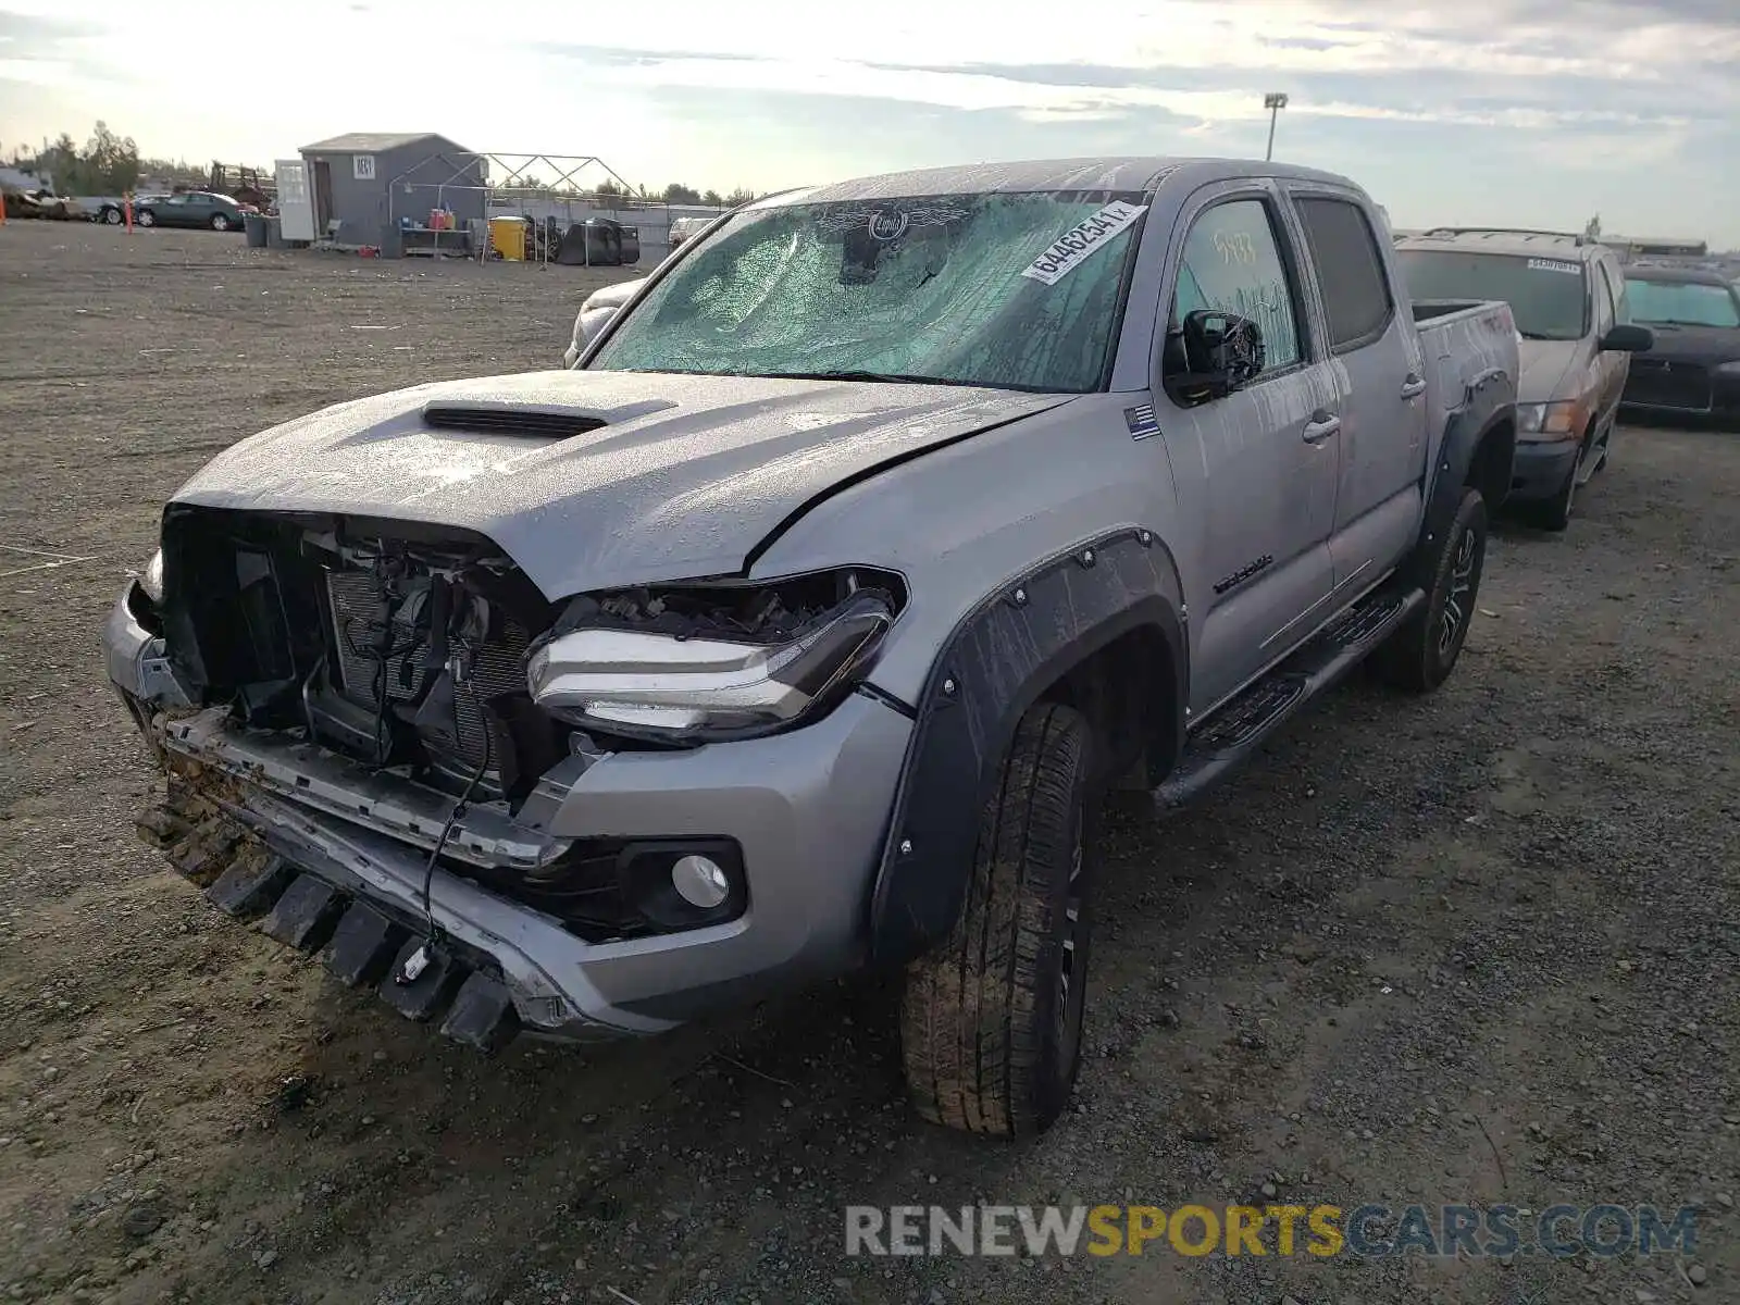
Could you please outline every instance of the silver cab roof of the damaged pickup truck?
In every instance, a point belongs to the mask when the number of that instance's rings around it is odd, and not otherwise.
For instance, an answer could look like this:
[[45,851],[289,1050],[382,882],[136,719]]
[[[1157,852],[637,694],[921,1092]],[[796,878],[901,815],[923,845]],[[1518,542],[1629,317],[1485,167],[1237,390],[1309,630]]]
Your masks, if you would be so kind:
[[[1162,155],[1108,155],[1101,158],[1041,158],[1023,164],[960,164],[884,172],[872,177],[804,186],[769,195],[753,207],[786,204],[839,204],[853,200],[898,200],[926,195],[983,195],[994,191],[1119,190],[1147,193],[1162,181],[1188,181],[1192,188],[1215,181],[1263,176],[1289,181],[1321,181],[1354,186],[1347,177],[1291,164],[1246,158],[1168,158]],[[1357,186],[1354,186],[1357,190]]]

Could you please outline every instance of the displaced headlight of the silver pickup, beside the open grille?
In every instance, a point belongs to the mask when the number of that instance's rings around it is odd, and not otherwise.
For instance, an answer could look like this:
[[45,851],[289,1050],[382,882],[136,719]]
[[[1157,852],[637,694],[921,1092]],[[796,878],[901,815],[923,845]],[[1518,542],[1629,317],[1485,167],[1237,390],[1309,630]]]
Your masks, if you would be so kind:
[[[726,590],[720,590],[726,593]],[[532,701],[581,729],[668,743],[755,738],[832,708],[868,672],[898,597],[856,588],[839,602],[736,590],[696,599],[579,599],[527,659]],[[665,606],[670,604],[670,606]]]

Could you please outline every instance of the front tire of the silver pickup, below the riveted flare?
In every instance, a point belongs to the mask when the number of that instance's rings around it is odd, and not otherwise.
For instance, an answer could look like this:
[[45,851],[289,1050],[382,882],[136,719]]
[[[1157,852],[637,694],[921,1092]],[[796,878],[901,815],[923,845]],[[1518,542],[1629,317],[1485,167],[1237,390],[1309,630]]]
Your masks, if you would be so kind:
[[967,1133],[1041,1133],[1081,1063],[1098,804],[1093,733],[1039,703],[980,813],[948,941],[907,969],[901,1053],[920,1115]]

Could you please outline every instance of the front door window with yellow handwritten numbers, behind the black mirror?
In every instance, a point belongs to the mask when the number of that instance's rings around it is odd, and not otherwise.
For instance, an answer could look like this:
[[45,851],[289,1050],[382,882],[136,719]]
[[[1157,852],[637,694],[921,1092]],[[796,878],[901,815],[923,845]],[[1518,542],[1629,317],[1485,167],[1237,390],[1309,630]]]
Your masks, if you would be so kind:
[[1216,204],[1195,219],[1178,266],[1173,327],[1197,308],[1256,322],[1263,332],[1263,376],[1300,362],[1293,282],[1263,200]]

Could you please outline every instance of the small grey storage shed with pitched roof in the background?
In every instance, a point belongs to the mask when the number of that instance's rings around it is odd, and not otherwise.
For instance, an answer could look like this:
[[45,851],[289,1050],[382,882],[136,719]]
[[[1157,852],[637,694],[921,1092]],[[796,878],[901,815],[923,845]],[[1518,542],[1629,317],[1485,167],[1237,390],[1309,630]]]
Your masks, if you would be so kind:
[[449,209],[459,230],[484,219],[485,158],[445,136],[350,132],[299,153],[322,238],[378,245],[402,218],[426,224],[432,209]]

